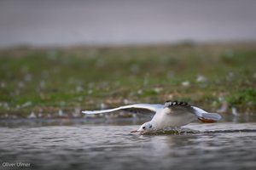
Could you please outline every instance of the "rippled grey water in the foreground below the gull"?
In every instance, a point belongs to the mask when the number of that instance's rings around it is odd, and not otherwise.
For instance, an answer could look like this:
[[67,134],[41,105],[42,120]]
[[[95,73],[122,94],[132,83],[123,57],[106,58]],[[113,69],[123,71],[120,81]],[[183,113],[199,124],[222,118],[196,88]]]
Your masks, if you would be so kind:
[[[255,169],[256,123],[191,123],[197,133],[131,134],[138,125],[0,127],[1,168],[16,169]],[[5,164],[3,164],[5,163]],[[5,167],[4,167],[5,166]],[[0,169],[1,169],[0,168]]]

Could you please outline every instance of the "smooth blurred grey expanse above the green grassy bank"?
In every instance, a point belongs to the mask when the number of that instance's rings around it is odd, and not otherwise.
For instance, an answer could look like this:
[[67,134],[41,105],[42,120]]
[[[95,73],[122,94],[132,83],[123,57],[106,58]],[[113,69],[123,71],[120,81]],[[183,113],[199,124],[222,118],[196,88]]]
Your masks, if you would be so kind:
[[256,1],[0,1],[0,47],[183,40],[256,40]]

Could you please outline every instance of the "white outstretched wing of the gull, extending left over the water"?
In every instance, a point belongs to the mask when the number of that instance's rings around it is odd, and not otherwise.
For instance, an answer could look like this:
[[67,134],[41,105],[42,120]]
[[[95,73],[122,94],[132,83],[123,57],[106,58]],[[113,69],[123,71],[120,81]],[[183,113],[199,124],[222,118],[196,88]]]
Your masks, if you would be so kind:
[[118,111],[129,111],[133,113],[154,114],[160,108],[163,108],[163,105],[135,104],[135,105],[124,105],[117,108],[107,109],[102,111],[82,111],[82,112],[84,114],[100,114],[100,113],[113,113]]

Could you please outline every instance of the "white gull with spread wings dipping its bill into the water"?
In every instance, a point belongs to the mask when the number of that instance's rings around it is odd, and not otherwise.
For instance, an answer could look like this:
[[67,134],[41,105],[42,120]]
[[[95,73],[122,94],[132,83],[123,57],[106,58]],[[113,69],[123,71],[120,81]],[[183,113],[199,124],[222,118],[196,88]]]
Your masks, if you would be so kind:
[[136,113],[154,114],[149,122],[143,123],[131,133],[144,133],[151,130],[160,130],[172,127],[182,127],[189,122],[199,119],[201,122],[217,122],[221,119],[218,113],[209,113],[198,107],[189,105],[186,102],[166,101],[165,105],[160,104],[135,104],[124,105],[114,109],[102,111],[82,111],[84,114],[112,113],[117,111],[131,111]]

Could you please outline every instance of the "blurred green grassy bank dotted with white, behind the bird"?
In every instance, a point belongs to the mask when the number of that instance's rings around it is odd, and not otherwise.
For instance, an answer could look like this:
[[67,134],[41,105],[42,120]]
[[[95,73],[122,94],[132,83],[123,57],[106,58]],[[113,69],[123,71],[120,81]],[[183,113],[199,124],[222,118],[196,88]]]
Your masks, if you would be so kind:
[[[185,100],[256,111],[256,43],[0,50],[0,115]],[[230,110],[228,110],[229,112]]]

